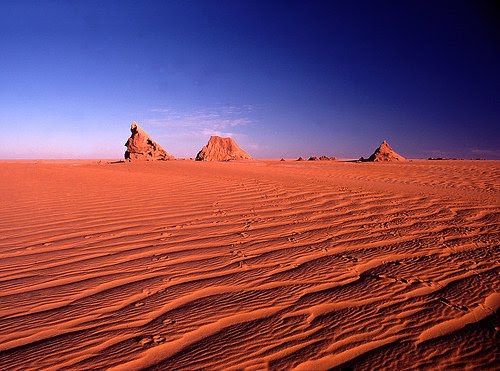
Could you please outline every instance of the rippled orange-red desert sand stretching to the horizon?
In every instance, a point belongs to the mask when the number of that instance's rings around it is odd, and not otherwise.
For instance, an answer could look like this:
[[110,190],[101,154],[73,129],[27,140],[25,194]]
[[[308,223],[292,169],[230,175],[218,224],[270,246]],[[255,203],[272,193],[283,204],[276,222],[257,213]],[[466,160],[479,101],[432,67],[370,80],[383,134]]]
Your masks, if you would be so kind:
[[0,369],[498,364],[500,161],[0,162]]

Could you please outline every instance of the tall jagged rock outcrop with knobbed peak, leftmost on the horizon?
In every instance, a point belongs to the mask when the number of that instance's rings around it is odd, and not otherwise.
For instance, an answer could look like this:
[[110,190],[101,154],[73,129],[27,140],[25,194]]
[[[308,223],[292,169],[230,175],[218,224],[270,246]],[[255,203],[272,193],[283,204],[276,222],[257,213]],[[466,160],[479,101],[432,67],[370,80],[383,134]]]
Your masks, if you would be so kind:
[[132,134],[128,138],[125,146],[127,150],[125,151],[125,160],[136,161],[136,160],[173,160],[174,156],[170,155],[165,151],[162,146],[156,143],[150,138],[148,133],[146,133],[142,128],[133,122],[130,127]]

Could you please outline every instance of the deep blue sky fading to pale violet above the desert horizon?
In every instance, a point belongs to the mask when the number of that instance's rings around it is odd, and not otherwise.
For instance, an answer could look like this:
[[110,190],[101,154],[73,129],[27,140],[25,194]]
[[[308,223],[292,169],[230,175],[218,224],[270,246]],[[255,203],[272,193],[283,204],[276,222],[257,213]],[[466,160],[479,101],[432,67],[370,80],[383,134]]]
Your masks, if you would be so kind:
[[0,2],[0,158],[500,159],[494,1]]

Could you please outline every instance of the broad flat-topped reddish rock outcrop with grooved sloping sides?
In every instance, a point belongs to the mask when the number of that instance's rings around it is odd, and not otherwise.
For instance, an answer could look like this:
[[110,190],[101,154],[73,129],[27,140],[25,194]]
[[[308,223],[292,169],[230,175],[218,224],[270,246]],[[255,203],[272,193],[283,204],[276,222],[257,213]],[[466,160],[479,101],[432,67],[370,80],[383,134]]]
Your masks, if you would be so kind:
[[196,161],[250,160],[246,153],[232,138],[211,136],[208,144],[196,155]]

